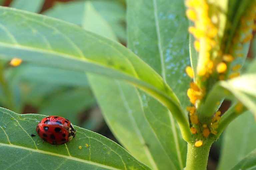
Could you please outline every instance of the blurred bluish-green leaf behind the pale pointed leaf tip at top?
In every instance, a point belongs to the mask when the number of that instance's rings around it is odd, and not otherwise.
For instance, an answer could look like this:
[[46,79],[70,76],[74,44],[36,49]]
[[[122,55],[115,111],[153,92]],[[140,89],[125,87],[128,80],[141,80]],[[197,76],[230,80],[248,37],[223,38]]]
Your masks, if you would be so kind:
[[124,27],[125,8],[120,2],[109,0],[69,1],[65,3],[57,2],[52,8],[43,12],[43,14],[82,26],[86,13],[88,13],[86,11],[88,8],[88,2],[98,13],[97,16],[104,18],[104,20],[106,20],[110,27],[114,30],[117,37],[122,42],[126,42],[126,33]]

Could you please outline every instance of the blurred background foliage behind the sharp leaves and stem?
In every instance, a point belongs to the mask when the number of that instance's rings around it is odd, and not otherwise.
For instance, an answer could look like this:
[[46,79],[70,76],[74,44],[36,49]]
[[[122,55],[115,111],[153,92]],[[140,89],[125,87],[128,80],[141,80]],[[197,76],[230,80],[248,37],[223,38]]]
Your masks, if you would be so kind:
[[[61,19],[82,28],[94,30],[96,33],[113,33],[110,36],[112,39],[126,45],[125,0],[0,0],[0,5]],[[85,26],[88,20],[90,20],[89,23],[95,22],[95,25]],[[103,20],[105,23],[101,27],[98,21]],[[246,70],[246,65],[250,63],[252,56],[255,56],[255,47],[256,39],[251,43],[242,71]],[[9,62],[0,60],[1,107],[19,114],[38,113],[62,116],[74,125],[98,132],[117,142],[104,122],[85,73],[42,67],[25,62],[14,67]],[[224,113],[229,106],[230,102],[224,101],[220,108],[221,113]],[[208,170],[217,168],[220,152],[222,152],[222,157],[218,169],[225,169],[227,167],[223,162],[229,160],[229,166],[232,167],[255,148],[251,140],[247,143],[240,141],[250,136],[249,133],[243,133],[243,131],[241,133],[245,136],[239,137],[240,140],[234,142],[233,139],[238,137],[234,133],[239,130],[237,124],[252,120],[250,114],[245,114],[239,119],[242,121],[233,122],[224,135],[213,144],[210,150]],[[251,122],[250,126],[249,130],[256,129],[255,122]],[[241,154],[232,154],[230,151],[239,145],[239,142],[244,142],[246,147],[241,147],[244,149],[242,153],[240,152]]]

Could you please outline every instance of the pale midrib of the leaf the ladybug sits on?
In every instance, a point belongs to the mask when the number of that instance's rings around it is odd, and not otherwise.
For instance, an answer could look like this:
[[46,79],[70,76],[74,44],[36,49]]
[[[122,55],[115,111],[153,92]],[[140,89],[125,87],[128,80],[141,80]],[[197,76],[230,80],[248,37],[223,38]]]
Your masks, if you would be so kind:
[[103,165],[103,164],[100,164],[100,163],[96,163],[96,162],[76,158],[76,157],[73,157],[73,156],[66,156],[66,155],[61,155],[61,154],[57,154],[57,153],[46,152],[46,151],[43,151],[43,150],[32,149],[32,148],[28,148],[28,147],[24,147],[24,146],[18,146],[18,145],[14,145],[14,144],[0,143],[0,146],[14,147],[14,148],[18,148],[18,149],[25,149],[25,150],[29,150],[29,151],[32,151],[32,152],[37,152],[37,153],[42,153],[42,154],[47,154],[47,155],[52,155],[52,156],[58,156],[58,157],[62,157],[62,158],[65,158],[65,159],[70,159],[70,160],[74,160],[74,161],[78,161],[78,162],[83,162],[83,163],[99,166],[99,167],[102,167],[102,168],[113,169],[113,170],[121,170],[121,169],[117,169],[117,168],[107,166],[107,165]]

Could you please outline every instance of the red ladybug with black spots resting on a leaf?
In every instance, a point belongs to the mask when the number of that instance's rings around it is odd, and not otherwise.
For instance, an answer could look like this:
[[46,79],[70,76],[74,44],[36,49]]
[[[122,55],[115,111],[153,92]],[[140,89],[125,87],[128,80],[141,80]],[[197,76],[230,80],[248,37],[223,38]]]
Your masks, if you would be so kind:
[[61,145],[76,136],[76,130],[69,120],[59,116],[42,119],[36,127],[40,138],[53,145]]

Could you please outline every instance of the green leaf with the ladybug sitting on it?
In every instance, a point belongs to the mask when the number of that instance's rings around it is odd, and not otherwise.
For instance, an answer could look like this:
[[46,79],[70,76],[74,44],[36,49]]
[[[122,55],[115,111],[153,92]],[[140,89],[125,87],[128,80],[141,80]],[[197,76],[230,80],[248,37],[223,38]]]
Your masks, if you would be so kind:
[[31,137],[44,117],[0,108],[0,167],[41,169],[45,162],[48,169],[149,169],[117,143],[83,128],[75,127],[76,137],[57,147]]

